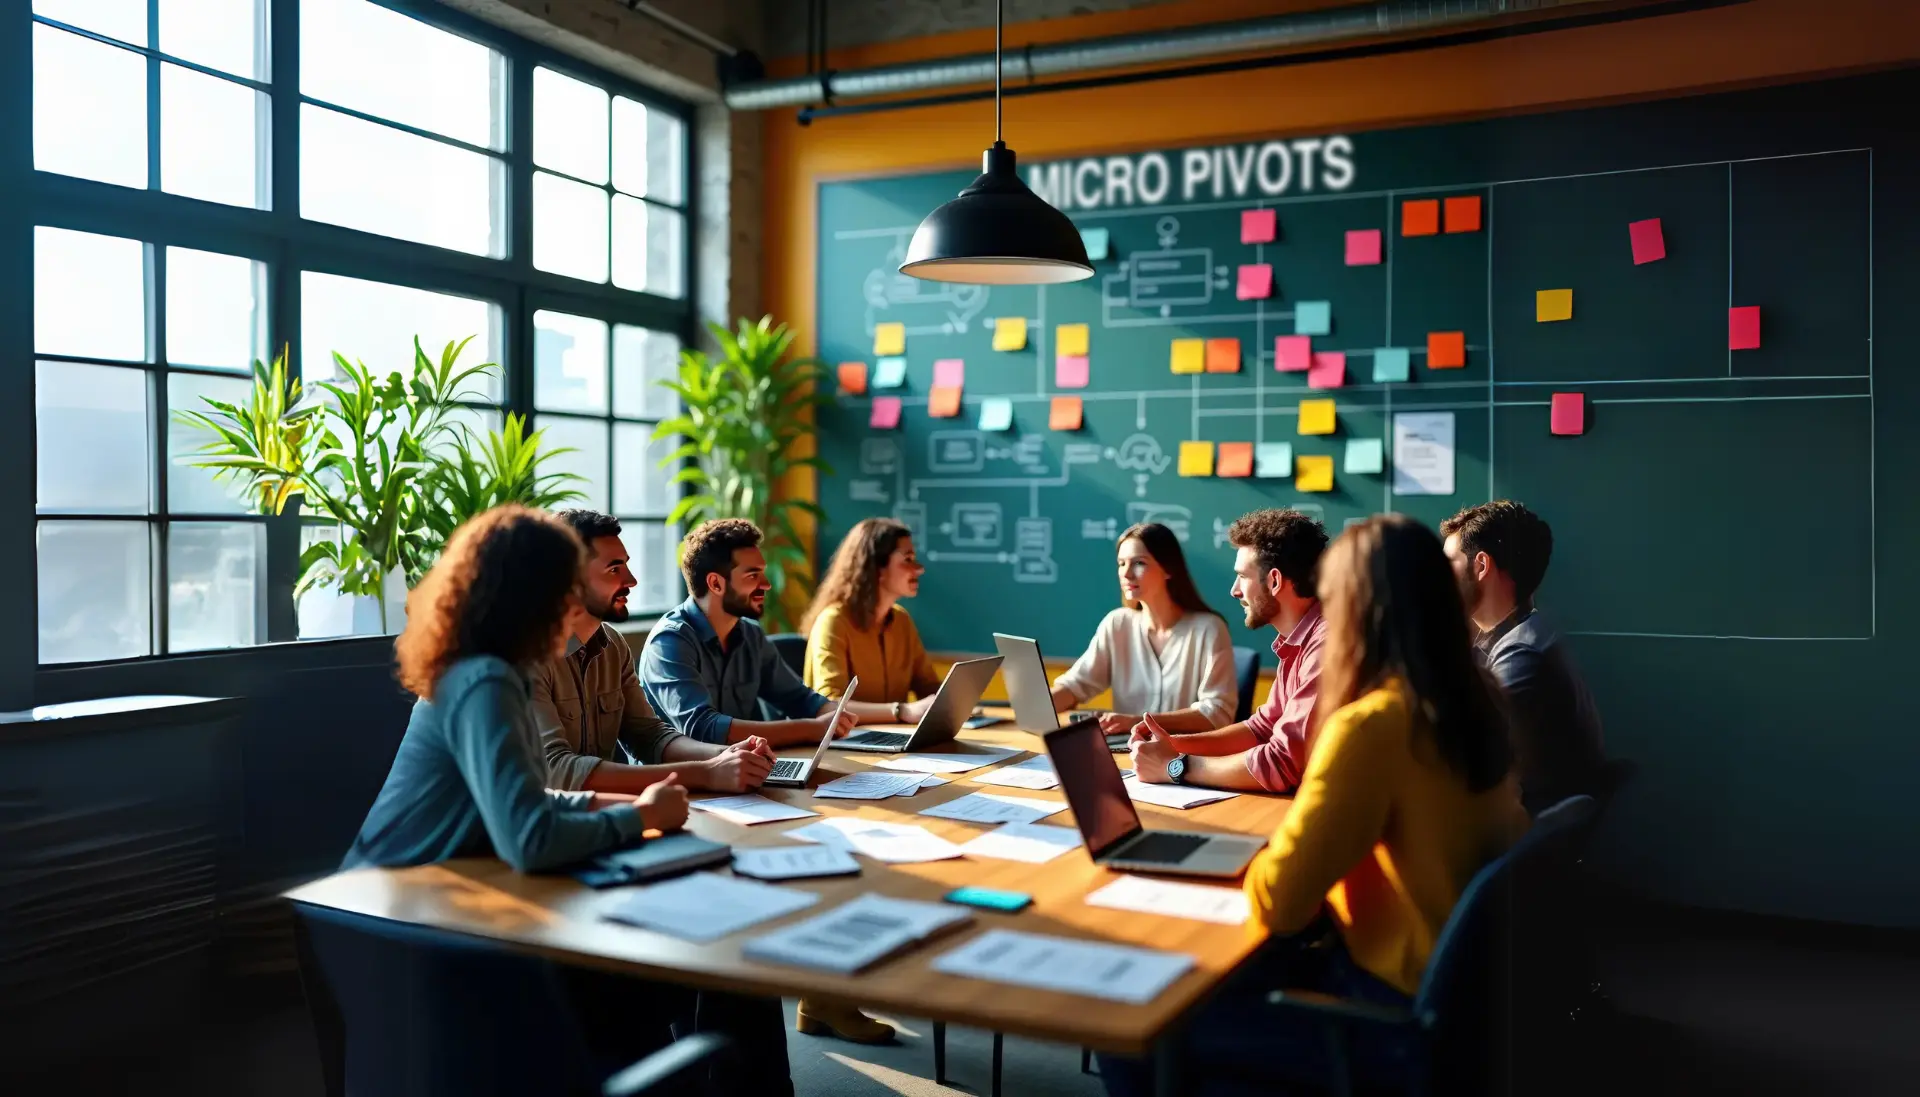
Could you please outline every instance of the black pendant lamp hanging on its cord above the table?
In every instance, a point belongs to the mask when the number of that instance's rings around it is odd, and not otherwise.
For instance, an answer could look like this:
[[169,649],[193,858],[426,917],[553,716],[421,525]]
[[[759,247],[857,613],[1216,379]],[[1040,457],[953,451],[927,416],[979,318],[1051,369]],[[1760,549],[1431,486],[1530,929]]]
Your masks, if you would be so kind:
[[1087,244],[1068,215],[1020,181],[1014,150],[1000,140],[1000,19],[993,6],[993,148],[981,175],[920,223],[902,275],[929,282],[1021,286],[1092,277]]

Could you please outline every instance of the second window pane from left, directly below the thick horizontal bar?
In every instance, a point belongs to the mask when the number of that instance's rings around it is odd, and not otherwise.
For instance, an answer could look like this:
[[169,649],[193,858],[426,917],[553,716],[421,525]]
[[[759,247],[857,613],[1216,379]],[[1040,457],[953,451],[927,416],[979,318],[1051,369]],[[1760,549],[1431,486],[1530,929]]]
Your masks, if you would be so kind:
[[250,369],[267,357],[267,267],[167,248],[167,361]]

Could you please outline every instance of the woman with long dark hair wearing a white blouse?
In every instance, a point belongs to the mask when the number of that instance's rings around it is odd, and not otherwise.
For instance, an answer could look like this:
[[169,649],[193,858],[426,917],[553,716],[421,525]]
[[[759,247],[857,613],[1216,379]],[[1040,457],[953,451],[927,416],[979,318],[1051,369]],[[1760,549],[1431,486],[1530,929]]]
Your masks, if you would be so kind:
[[1119,609],[1092,644],[1054,680],[1054,709],[1068,711],[1102,690],[1114,711],[1106,732],[1127,732],[1152,715],[1169,732],[1210,732],[1233,722],[1238,688],[1227,621],[1200,597],[1181,538],[1160,523],[1119,534]]

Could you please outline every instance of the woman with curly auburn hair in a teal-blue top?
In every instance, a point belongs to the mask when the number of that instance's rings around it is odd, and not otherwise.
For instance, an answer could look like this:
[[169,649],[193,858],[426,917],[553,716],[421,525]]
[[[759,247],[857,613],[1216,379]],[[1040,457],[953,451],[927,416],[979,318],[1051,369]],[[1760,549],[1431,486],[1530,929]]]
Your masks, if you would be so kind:
[[394,651],[419,701],[346,868],[497,855],[541,872],[687,820],[674,778],[637,801],[545,788],[526,669],[566,647],[582,555],[566,523],[526,507],[453,532],[407,597]]

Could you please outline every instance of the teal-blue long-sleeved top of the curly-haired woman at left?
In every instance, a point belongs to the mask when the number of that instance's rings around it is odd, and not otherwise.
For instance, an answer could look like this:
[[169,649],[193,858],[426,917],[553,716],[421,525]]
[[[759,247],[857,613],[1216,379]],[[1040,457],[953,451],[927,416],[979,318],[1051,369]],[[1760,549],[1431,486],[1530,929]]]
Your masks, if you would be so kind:
[[342,868],[499,857],[516,872],[540,872],[645,830],[634,805],[582,811],[591,793],[549,793],[545,784],[526,676],[493,655],[459,659],[432,701],[415,701]]

